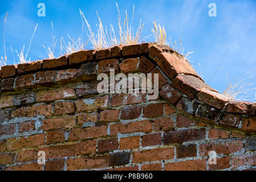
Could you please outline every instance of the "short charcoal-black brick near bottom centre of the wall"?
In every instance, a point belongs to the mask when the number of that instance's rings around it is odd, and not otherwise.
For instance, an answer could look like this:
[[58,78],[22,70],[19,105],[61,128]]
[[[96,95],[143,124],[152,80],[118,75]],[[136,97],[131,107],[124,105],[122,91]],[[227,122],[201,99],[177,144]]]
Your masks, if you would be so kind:
[[109,154],[109,166],[121,166],[128,164],[130,152],[117,152]]

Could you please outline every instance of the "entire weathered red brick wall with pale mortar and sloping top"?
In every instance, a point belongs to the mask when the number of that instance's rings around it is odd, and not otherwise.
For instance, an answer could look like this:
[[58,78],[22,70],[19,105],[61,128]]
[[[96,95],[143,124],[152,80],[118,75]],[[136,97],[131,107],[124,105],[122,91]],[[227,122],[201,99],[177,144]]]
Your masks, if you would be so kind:
[[[97,93],[110,68],[159,73],[159,98]],[[0,170],[255,169],[255,104],[222,96],[167,46],[80,51],[0,76]]]

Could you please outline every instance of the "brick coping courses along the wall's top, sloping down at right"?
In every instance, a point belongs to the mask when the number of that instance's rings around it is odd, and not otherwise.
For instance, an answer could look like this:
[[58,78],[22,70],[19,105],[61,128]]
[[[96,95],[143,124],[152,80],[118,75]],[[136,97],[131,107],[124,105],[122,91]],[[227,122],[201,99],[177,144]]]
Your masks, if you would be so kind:
[[[127,61],[121,68],[119,60],[131,57],[140,57],[137,64],[139,66],[131,69]],[[112,64],[115,63],[112,59],[117,61],[116,65]],[[157,67],[162,74],[159,82],[161,83],[161,78],[167,80],[167,83],[160,84],[160,96],[170,104],[215,125],[235,128],[246,133],[256,132],[255,103],[233,101],[223,96],[205,84],[184,57],[168,46],[155,43],[92,49],[57,59],[3,66],[0,71],[1,97],[42,86],[96,80],[95,76],[101,72],[109,72],[109,67],[123,73],[149,73]],[[4,102],[4,99],[0,99],[0,109],[8,107]]]

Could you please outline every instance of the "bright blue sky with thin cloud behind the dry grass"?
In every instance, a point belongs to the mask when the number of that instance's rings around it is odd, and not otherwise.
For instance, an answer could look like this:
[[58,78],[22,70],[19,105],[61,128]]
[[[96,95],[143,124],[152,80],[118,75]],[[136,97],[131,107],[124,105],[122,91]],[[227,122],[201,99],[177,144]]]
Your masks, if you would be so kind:
[[[46,5],[46,16],[37,15],[38,3]],[[117,0],[121,16],[125,10],[132,16],[132,7],[135,5],[133,25],[137,28],[139,20],[146,22],[142,37],[149,36],[146,41],[153,42],[151,32],[152,22],[156,21],[164,26],[167,36],[176,40],[182,39],[185,51],[193,51],[191,63],[196,71],[210,86],[222,92],[227,82],[235,82],[247,72],[255,69],[256,62],[256,1],[196,1],[196,0]],[[217,17],[208,15],[209,3],[216,3]],[[112,23],[117,28],[117,9],[115,1],[0,1],[0,56],[3,50],[3,26],[6,12],[5,44],[9,64],[14,63],[10,44],[19,51],[25,44],[25,50],[34,31],[38,28],[32,40],[28,57],[31,60],[47,57],[42,45],[51,44],[51,22],[54,24],[54,36],[58,43],[55,53],[59,52],[59,40],[67,34],[72,38],[82,35],[82,20],[79,8],[87,20],[96,30],[98,23],[96,11],[107,26]],[[84,32],[84,39],[87,39]],[[92,48],[88,45],[88,48]],[[26,52],[26,51],[25,51]],[[15,59],[18,57],[15,53]],[[201,64],[201,71],[199,67]],[[220,69],[221,67],[221,69]],[[217,73],[216,73],[217,72]],[[214,75],[214,73],[216,73]],[[228,75],[227,79],[226,76]],[[256,70],[251,73],[254,82]],[[213,77],[212,79],[210,79]],[[256,88],[253,85],[251,88]],[[255,91],[251,92],[255,98]]]

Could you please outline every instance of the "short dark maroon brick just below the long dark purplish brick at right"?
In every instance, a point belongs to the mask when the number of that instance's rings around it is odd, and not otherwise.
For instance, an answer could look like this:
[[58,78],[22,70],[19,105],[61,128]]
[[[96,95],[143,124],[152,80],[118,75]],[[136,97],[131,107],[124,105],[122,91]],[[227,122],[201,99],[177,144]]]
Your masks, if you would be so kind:
[[176,147],[177,158],[190,158],[197,156],[197,145],[190,144],[187,146],[177,146]]

